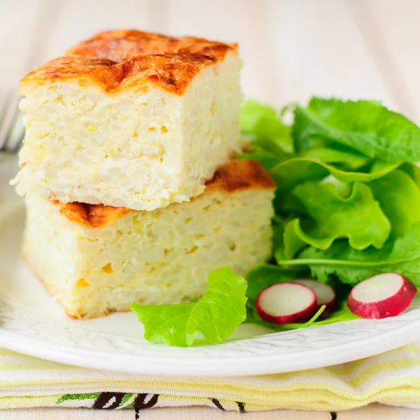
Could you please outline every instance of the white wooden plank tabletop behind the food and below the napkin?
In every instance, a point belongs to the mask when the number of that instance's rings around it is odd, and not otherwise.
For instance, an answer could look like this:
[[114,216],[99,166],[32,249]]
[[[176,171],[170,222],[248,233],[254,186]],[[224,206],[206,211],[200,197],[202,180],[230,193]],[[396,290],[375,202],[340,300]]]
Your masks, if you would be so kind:
[[[95,31],[141,28],[240,43],[244,92],[281,106],[311,94],[381,99],[420,121],[420,0],[0,0],[0,90]],[[420,418],[372,406],[339,420]],[[328,420],[269,412],[246,420]],[[10,410],[11,419],[134,419],[134,412]],[[140,419],[239,419],[215,409],[155,409]]]

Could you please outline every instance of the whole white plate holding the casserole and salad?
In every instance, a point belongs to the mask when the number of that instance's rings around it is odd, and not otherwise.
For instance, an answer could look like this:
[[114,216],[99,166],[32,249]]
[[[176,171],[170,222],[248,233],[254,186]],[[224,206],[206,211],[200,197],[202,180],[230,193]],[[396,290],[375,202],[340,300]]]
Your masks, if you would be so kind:
[[[3,209],[3,216],[6,210]],[[346,321],[267,334],[241,325],[235,338],[188,349],[150,344],[130,313],[68,318],[20,258],[23,209],[0,221],[0,346],[57,362],[140,374],[230,376],[344,363],[420,338],[420,304],[382,320]]]

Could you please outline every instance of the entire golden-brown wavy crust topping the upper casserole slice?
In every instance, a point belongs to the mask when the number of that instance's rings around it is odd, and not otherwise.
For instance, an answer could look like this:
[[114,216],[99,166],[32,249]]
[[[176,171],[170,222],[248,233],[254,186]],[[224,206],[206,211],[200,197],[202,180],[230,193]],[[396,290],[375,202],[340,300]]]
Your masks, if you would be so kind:
[[184,36],[173,38],[148,32],[101,32],[28,73],[30,80],[92,80],[106,92],[152,84],[183,94],[194,76],[221,60],[236,44]]

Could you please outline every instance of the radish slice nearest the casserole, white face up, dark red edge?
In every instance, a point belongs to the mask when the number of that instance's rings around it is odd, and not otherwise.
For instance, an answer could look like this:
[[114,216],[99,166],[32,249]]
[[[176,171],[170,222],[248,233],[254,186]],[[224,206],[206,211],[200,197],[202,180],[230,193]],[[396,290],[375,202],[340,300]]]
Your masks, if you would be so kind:
[[316,312],[316,295],[314,290],[299,283],[277,283],[260,292],[255,307],[267,322],[285,324],[308,321]]

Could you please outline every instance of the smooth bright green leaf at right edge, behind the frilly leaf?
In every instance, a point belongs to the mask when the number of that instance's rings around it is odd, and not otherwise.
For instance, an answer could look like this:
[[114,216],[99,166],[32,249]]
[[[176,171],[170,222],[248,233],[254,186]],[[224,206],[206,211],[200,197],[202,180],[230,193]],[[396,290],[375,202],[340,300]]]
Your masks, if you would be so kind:
[[369,183],[395,236],[404,235],[420,221],[420,190],[405,172],[395,170]]

